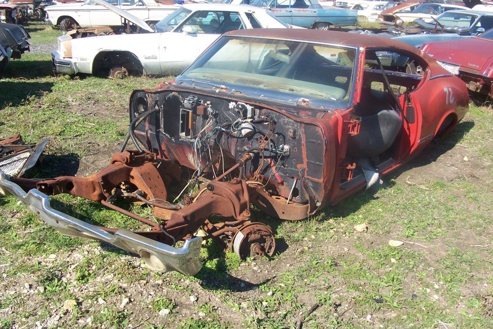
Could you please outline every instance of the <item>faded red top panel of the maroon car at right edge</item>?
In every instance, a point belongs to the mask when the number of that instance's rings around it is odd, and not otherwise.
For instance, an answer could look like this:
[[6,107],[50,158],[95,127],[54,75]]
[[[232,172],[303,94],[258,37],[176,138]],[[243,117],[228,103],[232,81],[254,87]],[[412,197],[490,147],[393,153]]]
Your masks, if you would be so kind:
[[460,65],[469,70],[485,72],[493,61],[493,41],[472,37],[434,42],[426,45],[425,52],[434,60]]

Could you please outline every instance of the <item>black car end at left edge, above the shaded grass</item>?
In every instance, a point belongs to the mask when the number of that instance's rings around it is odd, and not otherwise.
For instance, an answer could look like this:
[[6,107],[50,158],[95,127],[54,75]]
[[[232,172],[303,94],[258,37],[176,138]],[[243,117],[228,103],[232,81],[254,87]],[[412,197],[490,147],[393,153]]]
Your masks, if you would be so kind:
[[4,50],[4,56],[0,61],[0,69],[11,58],[20,59],[22,54],[30,50],[29,33],[22,25],[0,23],[0,45]]

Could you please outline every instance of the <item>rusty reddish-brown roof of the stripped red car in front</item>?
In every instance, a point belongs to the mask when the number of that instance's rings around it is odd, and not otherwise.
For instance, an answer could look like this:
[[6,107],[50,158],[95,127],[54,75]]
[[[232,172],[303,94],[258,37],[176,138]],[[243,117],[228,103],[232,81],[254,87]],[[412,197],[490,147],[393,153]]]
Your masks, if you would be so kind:
[[250,29],[225,33],[242,37],[265,37],[272,39],[300,40],[308,42],[341,44],[364,48],[395,47],[421,56],[422,51],[407,43],[386,37],[368,36],[357,33],[310,29]]

